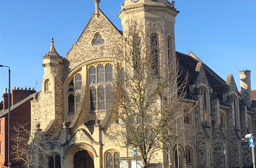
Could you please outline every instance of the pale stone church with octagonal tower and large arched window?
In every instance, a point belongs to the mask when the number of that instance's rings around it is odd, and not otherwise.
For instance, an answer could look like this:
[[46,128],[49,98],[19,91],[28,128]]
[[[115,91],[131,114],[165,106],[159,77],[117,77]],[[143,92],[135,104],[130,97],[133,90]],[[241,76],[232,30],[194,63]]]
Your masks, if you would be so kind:
[[[169,60],[178,61],[184,73],[188,72],[186,101],[199,101],[184,120],[184,124],[197,128],[196,133],[184,131],[185,140],[178,149],[173,149],[170,167],[250,166],[248,143],[241,141],[245,134],[255,130],[256,100],[251,96],[250,71],[240,71],[239,92],[232,74],[223,80],[194,53],[177,52],[175,17],[179,11],[173,1],[124,0],[118,14],[123,32],[99,9],[100,0],[94,3],[95,12],[67,56],[57,53],[52,39],[49,52],[42,58],[42,89],[31,101],[31,127],[35,132],[55,134],[59,142],[47,149],[50,157],[37,156],[47,157],[44,165],[55,168],[134,166],[132,151],[120,149],[108,137],[109,127],[117,122],[107,110],[107,95],[113,88],[115,71],[112,48],[124,47],[126,23],[136,17],[144,24],[144,34],[154,36],[162,46],[159,67]],[[168,167],[163,152],[159,152],[153,163],[152,167]]]

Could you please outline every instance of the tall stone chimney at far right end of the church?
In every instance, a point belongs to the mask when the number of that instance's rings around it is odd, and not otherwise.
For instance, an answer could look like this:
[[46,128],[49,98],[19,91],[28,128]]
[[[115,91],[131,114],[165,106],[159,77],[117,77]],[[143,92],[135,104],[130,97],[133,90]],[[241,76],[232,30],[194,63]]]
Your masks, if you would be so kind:
[[245,104],[251,106],[251,71],[240,71],[241,95]]

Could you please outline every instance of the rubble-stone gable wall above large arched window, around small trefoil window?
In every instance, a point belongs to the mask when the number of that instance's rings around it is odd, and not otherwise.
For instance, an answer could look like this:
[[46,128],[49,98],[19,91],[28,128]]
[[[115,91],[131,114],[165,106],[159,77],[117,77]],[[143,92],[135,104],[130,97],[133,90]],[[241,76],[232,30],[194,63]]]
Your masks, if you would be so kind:
[[[113,23],[100,11],[97,17],[95,13],[88,22],[86,28],[73,44],[65,60],[64,77],[77,65],[91,59],[101,57],[113,57],[113,46],[122,48],[122,34]],[[94,46],[95,35],[100,33],[104,40],[103,45]]]

